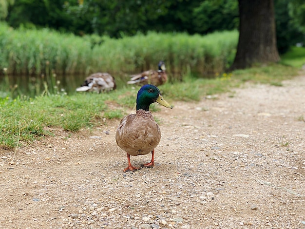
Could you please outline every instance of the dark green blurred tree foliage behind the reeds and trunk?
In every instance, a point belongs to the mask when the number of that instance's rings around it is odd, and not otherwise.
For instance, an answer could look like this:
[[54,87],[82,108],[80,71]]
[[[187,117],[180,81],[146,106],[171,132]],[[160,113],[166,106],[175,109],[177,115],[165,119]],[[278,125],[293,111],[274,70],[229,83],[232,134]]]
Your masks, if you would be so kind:
[[[274,0],[280,53],[304,43],[304,0]],[[208,34],[238,29],[238,0],[0,0],[0,20],[16,28],[49,27],[78,36]],[[100,44],[96,38],[93,44]]]

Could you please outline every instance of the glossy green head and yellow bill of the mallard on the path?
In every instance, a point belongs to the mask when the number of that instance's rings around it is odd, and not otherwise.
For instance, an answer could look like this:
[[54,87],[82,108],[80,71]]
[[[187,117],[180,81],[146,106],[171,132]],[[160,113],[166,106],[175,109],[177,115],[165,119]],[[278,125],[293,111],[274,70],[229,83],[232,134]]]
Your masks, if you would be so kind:
[[136,110],[142,109],[149,111],[149,106],[154,102],[172,109],[172,106],[164,100],[160,90],[156,86],[151,84],[142,86],[136,97]]

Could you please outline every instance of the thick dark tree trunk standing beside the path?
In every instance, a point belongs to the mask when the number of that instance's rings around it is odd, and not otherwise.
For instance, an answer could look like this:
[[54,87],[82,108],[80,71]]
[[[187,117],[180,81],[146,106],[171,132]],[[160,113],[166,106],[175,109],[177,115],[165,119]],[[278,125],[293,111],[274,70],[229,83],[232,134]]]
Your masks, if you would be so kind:
[[238,3],[239,40],[231,69],[279,61],[273,0],[238,0]]

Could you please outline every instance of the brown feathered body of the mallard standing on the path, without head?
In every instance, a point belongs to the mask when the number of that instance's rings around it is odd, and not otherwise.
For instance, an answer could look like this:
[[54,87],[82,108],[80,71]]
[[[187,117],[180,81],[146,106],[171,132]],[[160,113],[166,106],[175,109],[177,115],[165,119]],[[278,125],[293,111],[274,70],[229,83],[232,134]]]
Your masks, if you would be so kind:
[[151,153],[160,139],[160,128],[152,113],[142,109],[123,117],[115,134],[117,145],[133,156]]

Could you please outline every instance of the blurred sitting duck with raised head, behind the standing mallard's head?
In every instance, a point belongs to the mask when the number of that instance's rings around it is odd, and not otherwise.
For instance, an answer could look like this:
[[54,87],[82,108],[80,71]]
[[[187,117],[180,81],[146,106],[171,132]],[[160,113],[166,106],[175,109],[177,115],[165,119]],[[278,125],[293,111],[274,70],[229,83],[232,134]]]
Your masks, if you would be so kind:
[[167,75],[165,70],[166,68],[164,62],[160,61],[158,64],[158,71],[148,70],[138,75],[133,75],[130,81],[128,81],[127,83],[138,85],[145,85],[150,83],[155,86],[162,85],[167,81]]

